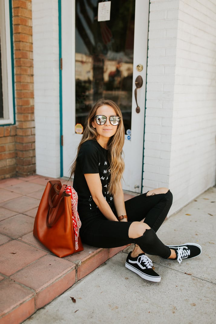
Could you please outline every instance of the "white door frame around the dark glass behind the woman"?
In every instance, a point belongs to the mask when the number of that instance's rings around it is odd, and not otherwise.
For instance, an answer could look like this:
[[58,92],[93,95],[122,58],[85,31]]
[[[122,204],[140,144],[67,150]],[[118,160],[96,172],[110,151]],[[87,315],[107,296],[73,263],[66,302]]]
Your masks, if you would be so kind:
[[[145,4],[145,5],[144,5]],[[143,10],[145,7],[145,10]],[[75,134],[75,0],[62,1],[62,107],[63,107],[63,175],[69,175],[72,156],[75,157],[76,149],[82,135]],[[68,19],[70,17],[70,19]],[[134,31],[134,59],[133,59],[133,88],[132,88],[132,116],[131,141],[125,141],[123,150],[125,158],[125,172],[123,189],[133,192],[142,191],[143,151],[144,151],[144,116],[146,96],[146,69],[147,69],[147,44],[148,44],[149,1],[136,0],[135,31]],[[141,41],[141,39],[143,41]],[[71,40],[71,41],[70,41]],[[143,65],[143,70],[138,72],[137,64]],[[137,102],[140,113],[136,113],[134,96],[135,79],[142,76],[143,85],[137,91]],[[71,77],[72,76],[72,77]],[[139,146],[139,148],[138,148]]]

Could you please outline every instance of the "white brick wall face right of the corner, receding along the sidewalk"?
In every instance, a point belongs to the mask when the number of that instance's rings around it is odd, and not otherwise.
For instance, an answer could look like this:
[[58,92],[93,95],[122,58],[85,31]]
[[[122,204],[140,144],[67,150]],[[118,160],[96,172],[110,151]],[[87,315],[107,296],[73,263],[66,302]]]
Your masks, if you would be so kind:
[[169,187],[173,211],[215,184],[216,3],[179,1]]

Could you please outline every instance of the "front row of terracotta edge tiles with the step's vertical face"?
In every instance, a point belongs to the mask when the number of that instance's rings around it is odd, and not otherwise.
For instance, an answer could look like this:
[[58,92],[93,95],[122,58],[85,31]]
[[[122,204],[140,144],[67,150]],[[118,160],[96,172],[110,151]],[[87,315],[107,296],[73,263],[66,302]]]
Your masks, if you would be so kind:
[[126,247],[97,249],[84,244],[82,252],[63,259],[48,252],[11,276],[0,275],[0,324],[22,323]]

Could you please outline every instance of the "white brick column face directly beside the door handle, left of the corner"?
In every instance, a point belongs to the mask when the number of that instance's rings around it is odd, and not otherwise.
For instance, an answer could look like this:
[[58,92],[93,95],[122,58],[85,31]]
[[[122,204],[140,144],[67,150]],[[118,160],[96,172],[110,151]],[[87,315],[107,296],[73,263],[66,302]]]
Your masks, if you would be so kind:
[[179,1],[151,1],[143,192],[169,186]]

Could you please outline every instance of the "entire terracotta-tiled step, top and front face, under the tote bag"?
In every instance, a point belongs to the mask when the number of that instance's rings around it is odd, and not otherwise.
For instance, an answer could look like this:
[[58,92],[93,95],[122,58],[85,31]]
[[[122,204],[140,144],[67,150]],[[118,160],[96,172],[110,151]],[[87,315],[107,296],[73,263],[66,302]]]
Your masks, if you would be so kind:
[[[125,248],[84,244],[82,252],[60,259],[40,244],[32,233],[34,218],[52,179],[34,175],[0,180],[0,324],[22,323]],[[125,200],[131,197],[125,193]]]

